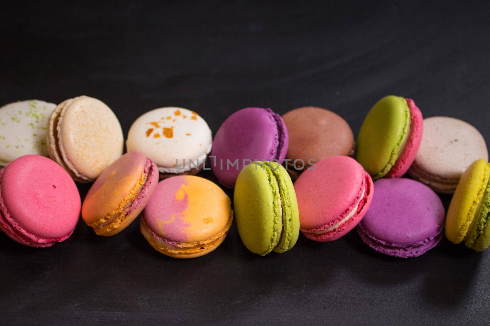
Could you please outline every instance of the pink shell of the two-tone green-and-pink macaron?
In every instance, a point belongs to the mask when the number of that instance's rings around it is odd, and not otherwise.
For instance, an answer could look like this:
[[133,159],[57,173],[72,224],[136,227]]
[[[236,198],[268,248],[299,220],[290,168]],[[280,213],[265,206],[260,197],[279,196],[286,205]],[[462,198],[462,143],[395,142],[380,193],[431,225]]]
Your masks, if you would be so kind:
[[404,149],[396,160],[395,165],[387,177],[398,178],[407,173],[408,169],[412,165],[417,156],[420,143],[422,142],[423,134],[423,117],[422,112],[415,105],[415,102],[411,99],[405,99],[407,101],[408,108],[410,109],[410,132],[407,137]]

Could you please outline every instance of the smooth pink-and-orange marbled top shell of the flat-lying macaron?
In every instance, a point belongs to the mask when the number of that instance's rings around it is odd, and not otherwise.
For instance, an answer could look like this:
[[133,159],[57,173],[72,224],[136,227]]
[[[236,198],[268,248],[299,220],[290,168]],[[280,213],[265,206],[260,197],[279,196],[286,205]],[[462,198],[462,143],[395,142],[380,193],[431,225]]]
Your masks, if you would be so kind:
[[163,239],[199,242],[219,234],[232,217],[230,199],[213,182],[192,175],[160,181],[143,211]]

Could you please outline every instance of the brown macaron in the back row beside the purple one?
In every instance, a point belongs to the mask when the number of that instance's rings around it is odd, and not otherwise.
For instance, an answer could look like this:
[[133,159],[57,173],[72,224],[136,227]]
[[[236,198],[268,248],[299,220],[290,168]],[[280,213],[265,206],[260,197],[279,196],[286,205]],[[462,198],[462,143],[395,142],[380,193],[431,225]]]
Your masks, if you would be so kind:
[[289,133],[288,172],[294,180],[325,157],[354,154],[354,134],[337,113],[303,107],[283,114],[282,119]]

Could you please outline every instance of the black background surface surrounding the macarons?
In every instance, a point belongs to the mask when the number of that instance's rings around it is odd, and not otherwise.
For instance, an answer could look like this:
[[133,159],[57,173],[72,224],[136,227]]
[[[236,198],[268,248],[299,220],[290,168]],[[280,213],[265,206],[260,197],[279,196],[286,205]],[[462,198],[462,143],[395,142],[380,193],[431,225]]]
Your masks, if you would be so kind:
[[[396,94],[490,140],[488,2],[21,2],[0,9],[0,104],[86,94],[124,135],[164,106],[199,112],[214,134],[238,109],[313,105],[357,135],[371,106]],[[104,238],[80,220],[46,249],[0,234],[0,323],[488,325],[489,255],[442,239],[397,259],[351,232],[330,243],[300,235],[260,257],[233,225],[213,253],[176,260],[136,222]]]

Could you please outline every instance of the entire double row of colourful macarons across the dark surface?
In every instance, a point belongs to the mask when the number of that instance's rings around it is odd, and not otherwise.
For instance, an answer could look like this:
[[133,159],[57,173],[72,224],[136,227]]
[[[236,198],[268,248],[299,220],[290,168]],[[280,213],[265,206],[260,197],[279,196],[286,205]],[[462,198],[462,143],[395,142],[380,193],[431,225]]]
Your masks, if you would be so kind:
[[[32,147],[26,146],[29,138],[25,126],[35,137]],[[0,196],[0,227],[12,239],[28,245],[51,245],[66,239],[74,228],[70,223],[61,223],[73,228],[68,233],[66,228],[63,232],[38,233],[32,223],[38,219],[38,226],[54,230],[54,225],[60,223],[47,223],[46,217],[56,214],[34,218],[32,212],[38,210],[28,210],[31,213],[26,211],[24,215],[9,213],[19,206],[12,202],[22,198],[37,196],[34,202],[38,204],[43,203],[42,198],[56,198],[54,194],[41,196],[42,192],[32,190],[37,187],[25,188],[24,184],[16,188],[5,177],[19,174],[16,165],[18,170],[25,170],[29,164],[43,166],[40,162],[26,163],[39,161],[39,156],[16,158],[33,153],[29,150],[46,154],[44,149],[73,179],[97,179],[81,209],[83,219],[96,233],[116,234],[143,211],[143,235],[155,249],[173,257],[196,257],[212,251],[231,225],[233,214],[228,197],[211,181],[190,176],[203,168],[209,152],[215,162],[238,161],[231,169],[222,163],[211,164],[211,168],[223,185],[235,186],[238,231],[245,246],[262,255],[290,249],[300,229],[310,239],[330,241],[359,224],[361,238],[375,250],[398,257],[418,256],[441,239],[444,209],[439,197],[427,186],[396,177],[412,167],[410,172],[415,178],[438,192],[451,193],[468,162],[483,158],[466,172],[473,175],[483,171],[485,175],[479,179],[483,186],[471,191],[474,189],[466,183],[473,180],[476,187],[474,177],[462,178],[448,212],[446,236],[453,242],[465,240],[477,250],[488,246],[486,206],[480,204],[487,197],[489,169],[483,137],[474,127],[454,118],[423,121],[410,99],[387,96],[369,111],[357,139],[356,159],[361,164],[338,156],[352,155],[354,151],[348,124],[331,111],[313,107],[294,109],[282,117],[270,109],[239,110],[223,122],[214,141],[206,122],[196,112],[155,109],[133,123],[126,146],[135,152],[123,156],[119,121],[105,104],[87,96],[58,106],[41,101],[4,106],[0,109],[2,131],[5,136],[0,134],[0,139],[13,144],[6,142],[5,150],[0,146],[0,160],[4,164],[12,159],[17,163],[10,163],[0,175],[2,193],[8,193],[8,189],[14,192]],[[6,151],[9,148],[17,152]],[[177,166],[179,159],[181,167]],[[266,162],[244,168],[244,159]],[[282,166],[267,162],[284,159],[290,163],[287,172]],[[299,168],[295,163],[298,160]],[[128,163],[131,161],[139,163]],[[197,164],[193,167],[191,161]],[[40,188],[55,194],[70,193],[67,187],[60,189],[56,185],[60,180],[50,179],[54,173],[48,170],[38,171]],[[288,173],[297,179],[294,186]],[[157,185],[158,175],[164,180]],[[383,177],[372,183],[372,179]],[[21,179],[11,178],[17,182]],[[29,189],[32,194],[25,193]],[[76,203],[74,197],[50,200],[50,204],[55,207],[60,200]],[[478,203],[476,207],[467,205],[470,197],[472,203]],[[81,204],[78,211],[76,205],[68,206],[59,211],[65,216],[73,211],[71,216],[76,223]]]

